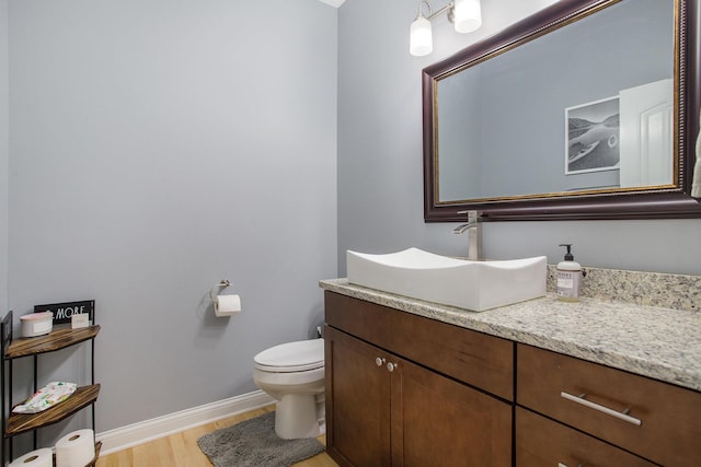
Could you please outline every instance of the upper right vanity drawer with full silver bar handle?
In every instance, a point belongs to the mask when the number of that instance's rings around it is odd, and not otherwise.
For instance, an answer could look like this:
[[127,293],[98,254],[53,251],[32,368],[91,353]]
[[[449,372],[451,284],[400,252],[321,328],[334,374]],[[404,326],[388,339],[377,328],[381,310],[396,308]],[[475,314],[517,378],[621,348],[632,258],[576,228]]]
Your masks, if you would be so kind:
[[655,463],[701,465],[700,393],[520,343],[516,369],[518,405]]

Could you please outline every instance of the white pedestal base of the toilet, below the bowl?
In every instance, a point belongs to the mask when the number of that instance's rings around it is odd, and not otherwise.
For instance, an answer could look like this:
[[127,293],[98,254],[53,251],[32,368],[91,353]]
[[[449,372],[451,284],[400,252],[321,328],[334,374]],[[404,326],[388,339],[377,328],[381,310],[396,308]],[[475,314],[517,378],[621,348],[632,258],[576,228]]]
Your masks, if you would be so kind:
[[275,433],[283,440],[317,437],[325,432],[315,394],[286,394],[275,406]]

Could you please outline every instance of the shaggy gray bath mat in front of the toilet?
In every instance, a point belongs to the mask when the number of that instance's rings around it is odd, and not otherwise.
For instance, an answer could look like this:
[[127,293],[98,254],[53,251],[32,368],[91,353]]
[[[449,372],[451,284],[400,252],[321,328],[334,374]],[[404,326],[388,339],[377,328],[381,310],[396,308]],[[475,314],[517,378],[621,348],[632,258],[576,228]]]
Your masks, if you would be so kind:
[[197,444],[215,467],[288,467],[324,451],[315,437],[277,437],[275,412],[207,433]]

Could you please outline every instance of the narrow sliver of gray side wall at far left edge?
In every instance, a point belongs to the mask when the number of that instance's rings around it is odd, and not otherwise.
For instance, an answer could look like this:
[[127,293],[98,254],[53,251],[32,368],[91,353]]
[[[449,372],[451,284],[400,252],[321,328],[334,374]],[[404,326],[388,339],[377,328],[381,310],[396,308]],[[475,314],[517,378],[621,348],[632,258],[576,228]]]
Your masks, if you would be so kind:
[[0,313],[8,307],[8,2],[0,0]]

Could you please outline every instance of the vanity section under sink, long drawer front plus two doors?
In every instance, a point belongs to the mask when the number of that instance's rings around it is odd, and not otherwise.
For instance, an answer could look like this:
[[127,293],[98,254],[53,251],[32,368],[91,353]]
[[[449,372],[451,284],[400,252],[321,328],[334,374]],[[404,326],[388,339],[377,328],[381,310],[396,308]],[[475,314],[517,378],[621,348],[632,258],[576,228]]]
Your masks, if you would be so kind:
[[336,463],[512,465],[513,342],[333,292],[325,310]]

